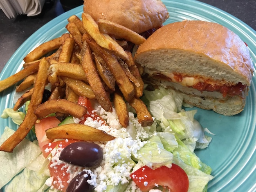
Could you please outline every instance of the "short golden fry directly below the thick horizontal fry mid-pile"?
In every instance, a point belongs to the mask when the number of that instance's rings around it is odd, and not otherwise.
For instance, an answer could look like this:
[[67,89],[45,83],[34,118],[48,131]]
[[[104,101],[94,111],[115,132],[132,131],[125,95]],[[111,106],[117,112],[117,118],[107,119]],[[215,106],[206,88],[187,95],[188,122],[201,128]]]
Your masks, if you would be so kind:
[[79,96],[85,96],[90,99],[96,99],[94,92],[90,85],[87,85],[81,80],[76,80],[74,78],[69,78],[62,76],[61,77],[65,84],[73,90],[73,92]]

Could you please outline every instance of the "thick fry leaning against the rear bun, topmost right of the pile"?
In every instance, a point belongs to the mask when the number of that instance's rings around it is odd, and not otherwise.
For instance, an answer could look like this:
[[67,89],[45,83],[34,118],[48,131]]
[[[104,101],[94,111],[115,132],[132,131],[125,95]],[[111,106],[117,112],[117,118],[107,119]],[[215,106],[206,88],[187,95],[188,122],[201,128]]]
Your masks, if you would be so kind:
[[128,29],[127,27],[108,20],[99,19],[98,26],[101,33],[115,36],[115,38],[126,39],[135,45],[140,45],[146,40],[143,36]]

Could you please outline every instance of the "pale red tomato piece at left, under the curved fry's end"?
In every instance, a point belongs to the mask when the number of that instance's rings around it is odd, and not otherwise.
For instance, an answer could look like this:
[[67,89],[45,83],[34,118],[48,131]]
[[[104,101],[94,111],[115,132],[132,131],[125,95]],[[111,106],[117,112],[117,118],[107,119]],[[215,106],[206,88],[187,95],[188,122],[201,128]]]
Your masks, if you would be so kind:
[[59,123],[61,122],[55,116],[45,117],[43,119],[40,119],[40,121],[36,122],[35,124],[36,138],[38,140],[38,145],[41,151],[43,151],[44,145],[51,143],[53,141],[46,137],[45,130],[52,127],[57,127]]

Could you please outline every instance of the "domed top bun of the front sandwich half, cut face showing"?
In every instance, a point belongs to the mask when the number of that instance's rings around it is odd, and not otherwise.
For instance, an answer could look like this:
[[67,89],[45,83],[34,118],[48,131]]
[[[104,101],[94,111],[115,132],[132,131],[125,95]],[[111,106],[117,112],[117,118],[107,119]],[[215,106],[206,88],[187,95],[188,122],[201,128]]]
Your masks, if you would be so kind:
[[213,22],[185,20],[155,31],[135,54],[143,67],[250,85],[249,49],[231,30]]

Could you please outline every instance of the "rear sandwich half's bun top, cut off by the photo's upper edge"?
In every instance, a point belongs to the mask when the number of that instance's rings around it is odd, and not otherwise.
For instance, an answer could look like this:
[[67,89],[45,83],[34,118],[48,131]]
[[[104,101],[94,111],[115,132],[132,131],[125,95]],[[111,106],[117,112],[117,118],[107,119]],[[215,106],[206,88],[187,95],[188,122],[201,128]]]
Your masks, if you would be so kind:
[[169,17],[161,0],[84,0],[84,13],[142,33],[159,28]]

